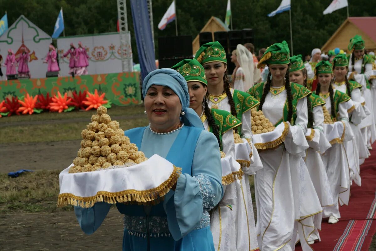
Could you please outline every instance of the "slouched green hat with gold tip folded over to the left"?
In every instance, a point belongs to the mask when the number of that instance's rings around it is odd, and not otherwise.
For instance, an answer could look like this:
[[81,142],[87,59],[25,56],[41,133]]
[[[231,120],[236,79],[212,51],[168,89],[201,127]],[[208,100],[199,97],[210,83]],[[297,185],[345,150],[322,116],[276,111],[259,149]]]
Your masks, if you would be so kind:
[[284,65],[290,63],[290,49],[286,41],[269,46],[260,58],[257,68],[265,67],[266,64]]

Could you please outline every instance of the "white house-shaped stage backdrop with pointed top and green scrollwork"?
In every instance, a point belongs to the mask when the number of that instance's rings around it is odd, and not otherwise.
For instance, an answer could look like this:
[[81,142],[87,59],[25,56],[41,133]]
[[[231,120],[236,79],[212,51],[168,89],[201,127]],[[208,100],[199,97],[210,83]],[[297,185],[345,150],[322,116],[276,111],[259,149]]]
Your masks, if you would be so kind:
[[[21,15],[9,29],[0,37],[0,53],[3,56],[3,63],[8,55],[8,49],[12,49],[18,58],[21,48],[30,53],[29,69],[32,78],[43,78],[46,76],[47,64],[43,61],[47,56],[52,38],[39,29],[26,17]],[[18,67],[16,67],[18,70]],[[3,73],[6,68],[3,67]]]

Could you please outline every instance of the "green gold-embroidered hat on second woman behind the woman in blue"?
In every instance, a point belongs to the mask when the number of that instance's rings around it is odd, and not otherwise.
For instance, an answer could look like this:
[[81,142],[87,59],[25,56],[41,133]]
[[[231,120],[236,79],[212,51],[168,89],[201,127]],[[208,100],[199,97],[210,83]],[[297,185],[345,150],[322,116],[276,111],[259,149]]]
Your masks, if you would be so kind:
[[218,41],[203,44],[194,57],[200,64],[223,62],[227,64],[226,52]]

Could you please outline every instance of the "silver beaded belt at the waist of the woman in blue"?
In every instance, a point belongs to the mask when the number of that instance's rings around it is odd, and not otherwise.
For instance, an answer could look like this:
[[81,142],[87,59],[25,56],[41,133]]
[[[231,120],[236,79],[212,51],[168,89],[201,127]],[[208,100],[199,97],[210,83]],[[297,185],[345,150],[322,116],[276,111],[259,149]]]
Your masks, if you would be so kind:
[[[123,219],[124,228],[129,235],[146,238],[146,217],[125,215]],[[207,211],[204,211],[202,218],[194,229],[201,229],[210,225],[210,217]],[[163,216],[149,216],[150,237],[170,237],[167,218]]]

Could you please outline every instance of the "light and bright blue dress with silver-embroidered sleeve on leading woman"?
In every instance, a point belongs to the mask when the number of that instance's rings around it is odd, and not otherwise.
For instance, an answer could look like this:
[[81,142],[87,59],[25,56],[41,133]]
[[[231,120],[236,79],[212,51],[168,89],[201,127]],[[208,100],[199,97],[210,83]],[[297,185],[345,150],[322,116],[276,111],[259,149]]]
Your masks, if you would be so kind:
[[[211,210],[223,196],[218,141],[203,129],[184,126],[180,131],[157,135],[149,126],[125,132],[146,157],[153,154],[182,168],[175,191],[153,206],[116,204],[124,214],[123,251],[214,251],[210,231]],[[86,234],[102,224],[111,205],[75,207]],[[115,248],[115,247],[114,247]]]

